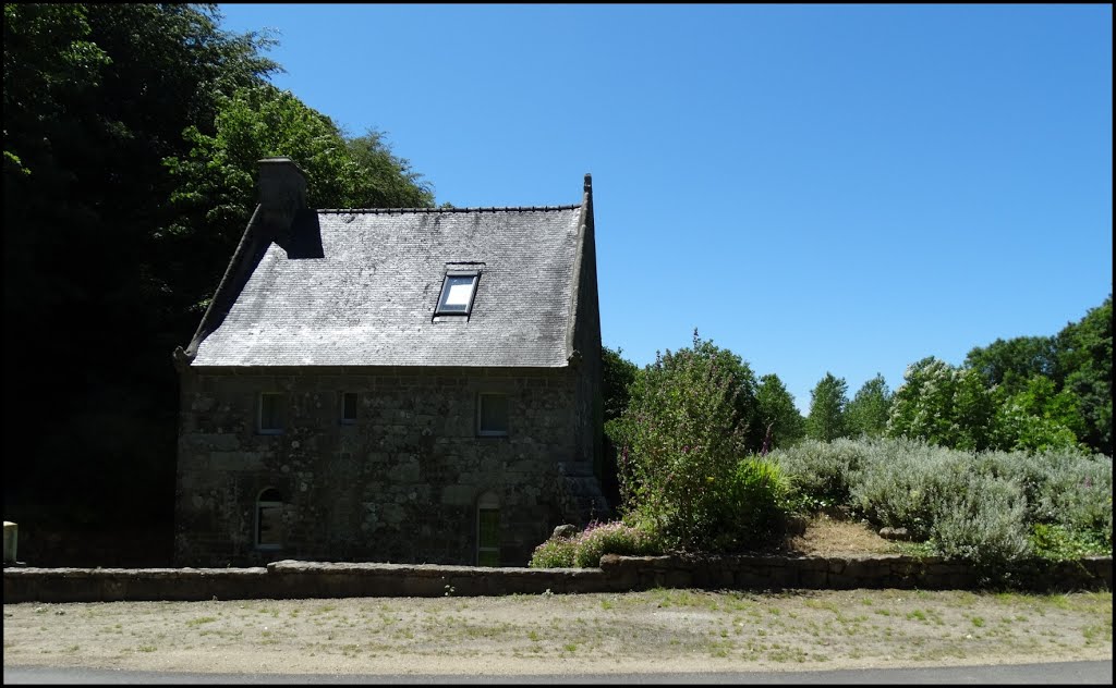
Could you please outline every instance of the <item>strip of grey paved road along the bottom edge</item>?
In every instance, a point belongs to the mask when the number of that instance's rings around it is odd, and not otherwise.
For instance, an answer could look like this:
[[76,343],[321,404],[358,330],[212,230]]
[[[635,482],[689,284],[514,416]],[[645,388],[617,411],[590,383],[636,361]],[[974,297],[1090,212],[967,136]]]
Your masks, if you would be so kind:
[[741,671],[718,674],[561,674],[527,676],[179,674],[4,667],[4,684],[1071,684],[1113,682],[1113,662],[1069,661],[991,667]]

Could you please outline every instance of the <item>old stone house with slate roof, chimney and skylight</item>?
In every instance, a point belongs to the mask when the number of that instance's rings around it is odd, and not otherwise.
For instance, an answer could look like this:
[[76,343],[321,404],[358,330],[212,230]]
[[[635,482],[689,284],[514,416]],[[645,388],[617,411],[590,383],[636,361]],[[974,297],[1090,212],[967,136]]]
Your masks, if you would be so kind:
[[526,565],[604,517],[593,188],[314,210],[288,158],[190,345],[175,564]]

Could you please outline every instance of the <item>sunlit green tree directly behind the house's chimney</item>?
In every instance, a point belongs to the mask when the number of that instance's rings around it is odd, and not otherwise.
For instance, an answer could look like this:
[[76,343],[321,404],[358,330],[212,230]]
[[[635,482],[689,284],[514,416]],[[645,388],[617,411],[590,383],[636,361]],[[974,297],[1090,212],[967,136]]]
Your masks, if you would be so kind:
[[195,313],[212,297],[256,207],[261,158],[294,159],[309,177],[311,207],[433,204],[421,175],[395,157],[378,133],[346,140],[329,117],[273,86],[242,88],[219,98],[213,129],[210,135],[198,126],[187,127],[183,136],[191,143],[189,154],[164,161],[179,182],[171,202],[180,215],[169,226],[167,241],[179,246],[177,252],[202,253],[208,260],[180,265],[183,272],[176,275],[176,283],[193,294]]

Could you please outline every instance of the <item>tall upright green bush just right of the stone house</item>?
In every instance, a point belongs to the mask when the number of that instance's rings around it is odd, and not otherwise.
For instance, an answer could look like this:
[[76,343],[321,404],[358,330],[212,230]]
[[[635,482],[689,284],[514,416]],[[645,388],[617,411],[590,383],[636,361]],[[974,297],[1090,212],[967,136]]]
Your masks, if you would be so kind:
[[709,546],[745,454],[747,423],[738,407],[739,357],[702,340],[656,355],[631,386],[614,428],[620,444],[620,491],[629,516],[672,546]]

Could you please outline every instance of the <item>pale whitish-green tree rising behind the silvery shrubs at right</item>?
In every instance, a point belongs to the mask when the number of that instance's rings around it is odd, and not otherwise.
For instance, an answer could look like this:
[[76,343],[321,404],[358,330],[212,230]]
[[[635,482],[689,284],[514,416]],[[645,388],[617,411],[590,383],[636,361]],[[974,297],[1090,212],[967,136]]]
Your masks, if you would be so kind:
[[888,436],[958,449],[992,447],[997,404],[980,372],[931,356],[908,366],[903,380],[892,400]]

